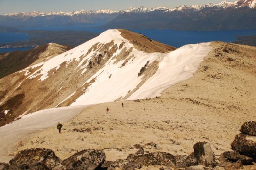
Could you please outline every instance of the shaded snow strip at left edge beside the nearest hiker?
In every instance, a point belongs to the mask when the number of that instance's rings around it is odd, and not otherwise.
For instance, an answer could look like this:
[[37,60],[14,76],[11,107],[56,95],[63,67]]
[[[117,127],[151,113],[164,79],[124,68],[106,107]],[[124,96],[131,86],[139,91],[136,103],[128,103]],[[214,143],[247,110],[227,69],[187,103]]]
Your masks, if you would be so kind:
[[63,122],[72,119],[85,107],[59,107],[41,110],[25,115],[20,120],[0,127],[0,162],[7,162],[12,158],[12,156],[7,155],[16,151],[18,141],[24,141],[39,130],[57,126],[58,122],[61,122],[65,127],[65,123]]

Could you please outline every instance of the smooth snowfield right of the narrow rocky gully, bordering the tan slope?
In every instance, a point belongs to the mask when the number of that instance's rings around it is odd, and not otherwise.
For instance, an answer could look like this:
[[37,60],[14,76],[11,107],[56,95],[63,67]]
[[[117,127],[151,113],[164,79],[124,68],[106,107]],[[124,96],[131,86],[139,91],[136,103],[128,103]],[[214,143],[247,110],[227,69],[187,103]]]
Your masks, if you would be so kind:
[[211,49],[210,43],[189,44],[160,56],[159,69],[155,75],[128,100],[160,96],[166,88],[189,79]]

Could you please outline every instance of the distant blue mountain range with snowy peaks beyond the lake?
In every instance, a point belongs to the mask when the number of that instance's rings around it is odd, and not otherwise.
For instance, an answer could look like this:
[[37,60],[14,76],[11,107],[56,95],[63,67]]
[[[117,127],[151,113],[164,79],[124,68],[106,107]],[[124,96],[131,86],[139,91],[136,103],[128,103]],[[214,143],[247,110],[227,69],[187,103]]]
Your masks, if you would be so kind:
[[[256,29],[256,0],[237,0],[208,5],[180,6],[174,9],[166,7],[131,7],[130,9],[110,13],[79,11],[60,15],[40,12],[14,15],[0,15],[0,23],[20,28],[51,26],[86,26],[100,30],[108,29],[157,29],[179,31],[220,31]],[[25,15],[24,15],[25,14]],[[141,22],[143,21],[143,22]]]

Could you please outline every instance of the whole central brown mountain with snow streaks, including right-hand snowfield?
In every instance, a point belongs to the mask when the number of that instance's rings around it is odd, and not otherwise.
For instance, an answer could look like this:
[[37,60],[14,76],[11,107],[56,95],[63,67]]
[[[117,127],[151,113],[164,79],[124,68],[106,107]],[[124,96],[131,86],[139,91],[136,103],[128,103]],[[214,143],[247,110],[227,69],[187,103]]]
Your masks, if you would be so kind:
[[159,96],[193,76],[211,50],[209,44],[175,50],[139,33],[105,31],[0,79],[0,112],[6,115],[0,125],[46,108]]

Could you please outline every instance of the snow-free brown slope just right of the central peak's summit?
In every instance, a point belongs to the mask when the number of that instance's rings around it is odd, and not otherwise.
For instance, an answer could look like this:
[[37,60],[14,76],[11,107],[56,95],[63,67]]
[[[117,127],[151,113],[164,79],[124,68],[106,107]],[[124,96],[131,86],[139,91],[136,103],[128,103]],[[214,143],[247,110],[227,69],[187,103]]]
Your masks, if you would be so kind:
[[136,32],[122,29],[119,29],[118,31],[121,32],[123,38],[134,44],[137,50],[142,50],[144,52],[169,52],[176,50],[173,46],[162,44]]

